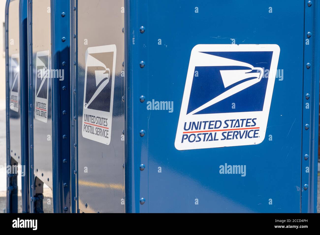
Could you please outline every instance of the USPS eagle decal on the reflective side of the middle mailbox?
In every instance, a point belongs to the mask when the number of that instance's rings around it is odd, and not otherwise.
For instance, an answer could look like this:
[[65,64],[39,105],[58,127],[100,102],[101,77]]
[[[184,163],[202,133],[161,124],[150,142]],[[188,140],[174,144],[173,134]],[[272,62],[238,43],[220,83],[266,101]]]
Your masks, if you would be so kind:
[[36,86],[35,86],[35,119],[47,123],[48,121],[48,90],[49,77],[43,71],[50,71],[50,52],[36,53]]

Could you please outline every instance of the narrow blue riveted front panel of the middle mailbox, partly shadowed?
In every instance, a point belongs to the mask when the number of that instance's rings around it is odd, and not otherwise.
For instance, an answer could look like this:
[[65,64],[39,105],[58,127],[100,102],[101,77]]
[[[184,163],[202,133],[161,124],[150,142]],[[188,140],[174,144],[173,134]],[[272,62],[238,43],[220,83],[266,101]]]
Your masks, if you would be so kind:
[[62,78],[52,79],[53,212],[70,208],[70,12],[69,1],[51,1],[52,68]]

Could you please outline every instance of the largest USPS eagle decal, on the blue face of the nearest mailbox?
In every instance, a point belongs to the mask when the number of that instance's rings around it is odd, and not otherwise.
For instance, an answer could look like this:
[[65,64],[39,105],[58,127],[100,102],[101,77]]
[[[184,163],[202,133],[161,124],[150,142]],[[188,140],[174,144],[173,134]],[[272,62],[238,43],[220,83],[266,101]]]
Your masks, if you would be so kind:
[[[190,56],[175,147],[260,144],[266,135],[280,48],[199,44]],[[264,76],[264,70],[268,75]]]

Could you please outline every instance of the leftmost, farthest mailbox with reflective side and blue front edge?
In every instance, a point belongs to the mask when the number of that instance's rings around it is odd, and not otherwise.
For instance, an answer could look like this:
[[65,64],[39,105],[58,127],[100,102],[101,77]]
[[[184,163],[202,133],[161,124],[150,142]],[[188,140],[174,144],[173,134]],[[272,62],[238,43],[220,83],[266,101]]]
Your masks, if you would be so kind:
[[[27,213],[29,211],[27,1],[11,0],[7,1],[6,6],[7,165],[17,163],[21,165],[22,212]],[[16,174],[7,175],[7,212],[17,212],[16,177]]]

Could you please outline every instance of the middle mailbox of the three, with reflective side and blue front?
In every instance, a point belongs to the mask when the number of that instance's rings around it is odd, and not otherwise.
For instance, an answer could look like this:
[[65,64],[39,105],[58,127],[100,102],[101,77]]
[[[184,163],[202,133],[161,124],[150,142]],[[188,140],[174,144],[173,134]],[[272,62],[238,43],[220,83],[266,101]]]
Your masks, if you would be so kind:
[[69,2],[28,3],[30,212],[43,212],[43,184],[53,212],[70,210]]

